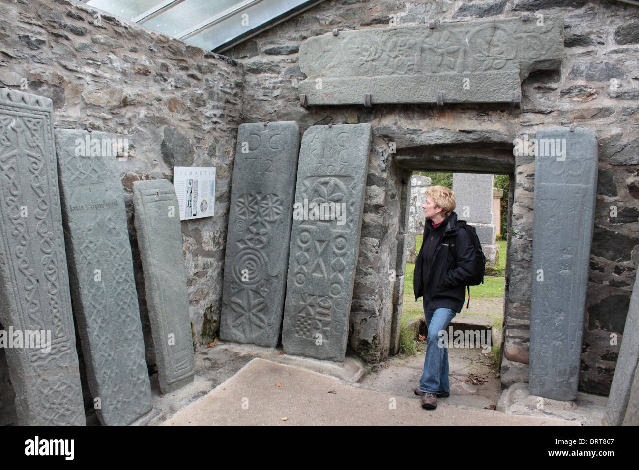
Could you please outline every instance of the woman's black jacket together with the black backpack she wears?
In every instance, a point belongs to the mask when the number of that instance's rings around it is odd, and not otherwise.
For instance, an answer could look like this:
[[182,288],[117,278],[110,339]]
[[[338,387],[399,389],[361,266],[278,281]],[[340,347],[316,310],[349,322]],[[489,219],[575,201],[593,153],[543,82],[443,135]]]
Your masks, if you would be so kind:
[[[459,226],[463,224],[466,222],[458,221],[455,212],[450,214],[442,240],[435,249],[431,265],[424,265],[422,257],[424,243],[419,249],[413,287],[415,288],[415,300],[422,295],[424,296],[424,308],[444,307],[459,312],[463,307],[466,299],[466,283],[472,278],[475,256],[468,232],[459,229]],[[424,240],[430,237],[433,230],[431,220],[426,219]],[[456,254],[455,257],[453,253]]]

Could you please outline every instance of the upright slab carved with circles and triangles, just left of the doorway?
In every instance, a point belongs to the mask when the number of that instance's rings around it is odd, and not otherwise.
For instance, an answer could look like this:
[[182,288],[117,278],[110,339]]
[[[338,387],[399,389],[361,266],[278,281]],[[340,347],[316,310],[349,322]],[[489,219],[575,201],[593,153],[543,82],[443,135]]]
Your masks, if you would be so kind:
[[[370,148],[370,124],[304,132],[282,327],[287,354],[344,359]],[[330,220],[330,207],[340,217]]]

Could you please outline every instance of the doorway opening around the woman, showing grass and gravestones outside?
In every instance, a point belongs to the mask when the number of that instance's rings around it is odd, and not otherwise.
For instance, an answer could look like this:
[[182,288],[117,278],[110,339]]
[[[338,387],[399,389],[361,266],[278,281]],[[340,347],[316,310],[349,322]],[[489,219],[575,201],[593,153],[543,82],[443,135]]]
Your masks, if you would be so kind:
[[[419,383],[426,351],[426,325],[422,299],[415,301],[413,273],[422,244],[425,217],[421,208],[424,202],[415,192],[442,185],[456,193],[455,212],[459,219],[475,226],[488,258],[484,283],[470,286],[470,302],[466,293],[463,308],[449,325],[447,333],[450,337],[443,338],[449,345],[450,377],[450,397],[444,399],[453,405],[496,408],[502,388],[500,364],[509,288],[515,161],[512,145],[506,139],[492,144],[397,150],[394,161],[403,170],[398,239],[403,235],[407,238],[407,242],[398,243],[397,248],[398,265],[403,267],[401,272],[404,274],[403,292],[400,293],[403,300],[401,313],[397,315],[399,312],[394,311],[392,331],[396,332],[397,341],[390,351],[394,356],[385,359],[375,377],[371,375],[373,386],[410,394],[410,388],[406,392],[406,382],[413,386]],[[484,187],[468,191],[473,179]],[[473,192],[477,197],[473,198]],[[486,219],[488,215],[489,220]],[[451,326],[453,331],[450,331]],[[456,338],[461,341],[457,343]],[[477,340],[473,347],[466,347],[469,339]],[[405,380],[397,380],[400,378]],[[403,384],[404,389],[396,390],[394,384]]]

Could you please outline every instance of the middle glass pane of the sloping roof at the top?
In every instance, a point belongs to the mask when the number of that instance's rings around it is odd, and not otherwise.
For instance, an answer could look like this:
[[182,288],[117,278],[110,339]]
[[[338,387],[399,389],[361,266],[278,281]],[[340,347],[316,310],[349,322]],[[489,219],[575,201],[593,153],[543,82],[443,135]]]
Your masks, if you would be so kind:
[[162,31],[162,33],[180,37],[184,31],[190,31],[204,20],[219,15],[243,0],[186,0],[155,18],[142,22],[144,26]]

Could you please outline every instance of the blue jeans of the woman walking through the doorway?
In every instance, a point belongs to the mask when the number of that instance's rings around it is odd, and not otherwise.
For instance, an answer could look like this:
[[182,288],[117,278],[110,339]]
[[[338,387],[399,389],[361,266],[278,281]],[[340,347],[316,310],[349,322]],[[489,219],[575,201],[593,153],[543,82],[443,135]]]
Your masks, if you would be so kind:
[[447,329],[450,320],[456,312],[450,308],[424,310],[426,317],[426,357],[424,358],[424,373],[419,379],[419,389],[425,393],[444,393],[450,391],[448,379],[448,341],[443,337],[443,347],[438,345],[438,333]]

